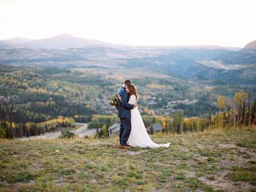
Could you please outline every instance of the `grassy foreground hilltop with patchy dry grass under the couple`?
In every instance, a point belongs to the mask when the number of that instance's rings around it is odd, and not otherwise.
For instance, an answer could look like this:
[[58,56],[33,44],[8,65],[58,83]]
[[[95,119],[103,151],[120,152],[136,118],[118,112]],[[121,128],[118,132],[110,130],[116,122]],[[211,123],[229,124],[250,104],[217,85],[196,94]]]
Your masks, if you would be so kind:
[[256,129],[168,136],[170,148],[118,138],[0,140],[0,191],[255,191]]

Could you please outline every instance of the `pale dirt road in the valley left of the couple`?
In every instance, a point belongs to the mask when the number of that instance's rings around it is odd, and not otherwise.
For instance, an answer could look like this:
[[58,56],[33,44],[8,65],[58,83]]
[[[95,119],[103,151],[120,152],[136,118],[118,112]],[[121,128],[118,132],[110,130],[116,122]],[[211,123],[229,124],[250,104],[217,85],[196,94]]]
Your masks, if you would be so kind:
[[[96,133],[96,129],[88,129],[87,124],[76,123],[76,125],[82,125],[82,126],[79,129],[76,129],[75,131],[71,131],[71,132],[74,132],[79,137],[93,136]],[[42,135],[30,136],[29,138],[17,138],[17,140],[38,140],[38,139],[51,140],[54,138],[58,138],[58,136],[61,136],[61,131],[45,132],[45,134],[42,134]]]

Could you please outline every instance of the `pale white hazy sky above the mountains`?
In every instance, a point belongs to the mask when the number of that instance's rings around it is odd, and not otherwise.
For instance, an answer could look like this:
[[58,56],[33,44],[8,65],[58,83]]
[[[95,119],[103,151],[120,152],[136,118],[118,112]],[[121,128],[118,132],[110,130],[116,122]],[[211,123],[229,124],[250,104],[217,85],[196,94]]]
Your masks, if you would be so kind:
[[256,40],[255,0],[0,0],[0,39],[60,33],[127,45]]

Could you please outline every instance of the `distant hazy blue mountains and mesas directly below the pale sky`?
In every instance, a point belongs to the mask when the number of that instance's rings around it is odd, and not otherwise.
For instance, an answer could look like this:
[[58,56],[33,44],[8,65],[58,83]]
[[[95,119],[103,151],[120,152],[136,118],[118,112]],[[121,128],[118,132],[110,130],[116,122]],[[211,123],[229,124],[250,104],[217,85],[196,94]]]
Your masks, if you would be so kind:
[[68,34],[0,41],[0,64],[62,67],[157,68],[164,74],[256,86],[256,40],[239,47],[218,45],[128,46]]

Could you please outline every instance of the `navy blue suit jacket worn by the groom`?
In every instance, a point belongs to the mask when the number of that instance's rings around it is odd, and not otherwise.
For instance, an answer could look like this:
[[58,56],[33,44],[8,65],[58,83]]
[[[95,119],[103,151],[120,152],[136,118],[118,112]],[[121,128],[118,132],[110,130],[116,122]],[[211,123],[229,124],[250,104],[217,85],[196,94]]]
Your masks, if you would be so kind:
[[122,100],[117,99],[118,101],[118,117],[120,118],[131,118],[131,109],[134,108],[134,105],[129,104],[129,94],[125,91],[125,87],[121,86],[116,92],[116,95],[121,95]]

